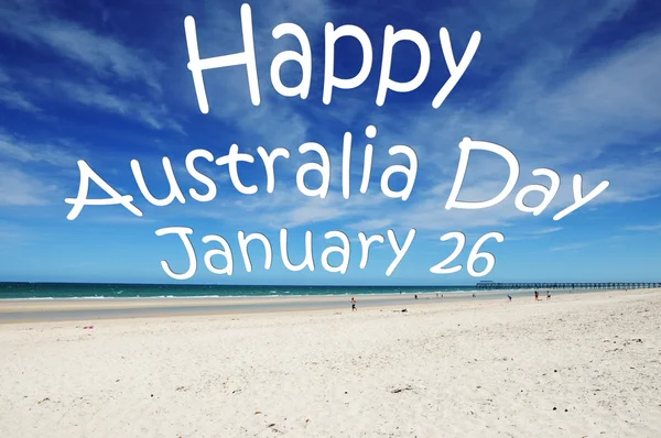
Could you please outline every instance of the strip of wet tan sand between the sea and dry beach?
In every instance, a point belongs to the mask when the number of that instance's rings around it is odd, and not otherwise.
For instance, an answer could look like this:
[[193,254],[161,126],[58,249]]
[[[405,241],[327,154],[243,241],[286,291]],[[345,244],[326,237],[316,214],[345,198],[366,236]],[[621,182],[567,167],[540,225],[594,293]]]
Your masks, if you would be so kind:
[[[655,293],[661,289],[629,289],[629,292]],[[625,289],[552,291],[552,297],[593,294],[626,294]],[[353,295],[360,309],[387,309],[442,305],[443,303],[484,302],[495,299],[530,299],[531,291],[484,291],[480,293],[402,293]],[[418,295],[418,299],[414,298]],[[50,299],[2,299],[0,300],[0,325],[74,321],[104,319],[137,319],[158,317],[282,314],[316,310],[350,310],[351,295],[303,295],[303,296],[246,296],[246,297],[129,297],[129,298],[50,298]],[[546,300],[542,289],[540,298]]]

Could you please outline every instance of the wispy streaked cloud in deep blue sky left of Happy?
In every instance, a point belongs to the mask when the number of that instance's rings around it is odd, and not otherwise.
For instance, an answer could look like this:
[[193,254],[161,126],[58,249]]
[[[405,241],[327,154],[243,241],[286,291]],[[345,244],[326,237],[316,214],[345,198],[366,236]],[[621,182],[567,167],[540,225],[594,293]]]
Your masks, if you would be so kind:
[[53,102],[75,103],[155,130],[184,132],[162,92],[164,65],[145,47],[61,18],[52,3],[40,0],[10,0],[0,9],[0,33],[64,59],[47,75],[6,67],[0,75],[4,106],[43,114]]

